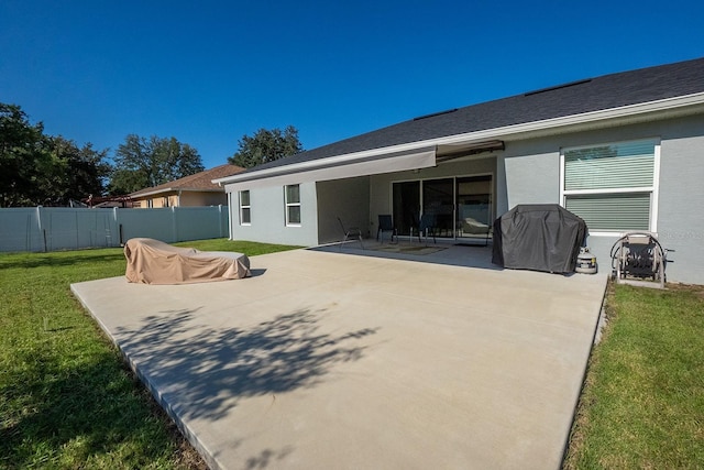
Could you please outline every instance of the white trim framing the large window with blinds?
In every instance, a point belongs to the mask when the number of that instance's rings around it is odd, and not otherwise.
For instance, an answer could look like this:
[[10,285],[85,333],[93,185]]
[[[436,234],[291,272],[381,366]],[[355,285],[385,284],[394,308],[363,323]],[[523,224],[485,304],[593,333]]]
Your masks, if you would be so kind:
[[[629,142],[644,142],[649,141],[654,144],[654,154],[653,154],[653,177],[652,177],[652,186],[642,186],[635,188],[618,188],[618,189],[564,189],[564,152],[566,150],[582,150],[582,149],[592,149],[595,146],[603,145],[614,145]],[[615,142],[598,142],[590,145],[575,145],[560,149],[560,205],[562,207],[566,207],[566,197],[575,196],[575,195],[584,195],[584,194],[625,194],[625,193],[650,193],[650,227],[649,231],[657,233],[658,232],[658,203],[660,199],[660,147],[661,141],[660,138],[645,138],[645,139],[632,139],[625,141],[615,141]],[[598,230],[592,231],[590,230],[590,237],[618,237],[623,234],[623,230]]]

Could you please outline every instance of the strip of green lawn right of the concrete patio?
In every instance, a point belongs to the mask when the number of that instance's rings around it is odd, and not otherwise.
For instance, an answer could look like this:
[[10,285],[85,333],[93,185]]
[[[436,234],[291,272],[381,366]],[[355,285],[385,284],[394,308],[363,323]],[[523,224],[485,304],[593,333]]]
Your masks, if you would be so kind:
[[704,287],[610,287],[565,468],[704,468]]

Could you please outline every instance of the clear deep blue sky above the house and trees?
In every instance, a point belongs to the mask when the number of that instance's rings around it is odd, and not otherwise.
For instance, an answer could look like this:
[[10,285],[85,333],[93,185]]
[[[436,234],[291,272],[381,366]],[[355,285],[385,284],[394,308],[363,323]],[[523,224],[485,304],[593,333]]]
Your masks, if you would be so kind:
[[417,116],[704,56],[704,2],[0,0],[0,102],[206,167],[260,128],[305,149]]

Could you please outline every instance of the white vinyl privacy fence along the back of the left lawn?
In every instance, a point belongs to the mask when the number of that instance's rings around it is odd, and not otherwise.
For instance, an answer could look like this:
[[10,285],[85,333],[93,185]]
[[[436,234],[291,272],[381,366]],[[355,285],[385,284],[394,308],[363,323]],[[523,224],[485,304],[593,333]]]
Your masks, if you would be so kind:
[[120,247],[135,237],[167,243],[228,237],[228,207],[163,209],[0,208],[0,251]]

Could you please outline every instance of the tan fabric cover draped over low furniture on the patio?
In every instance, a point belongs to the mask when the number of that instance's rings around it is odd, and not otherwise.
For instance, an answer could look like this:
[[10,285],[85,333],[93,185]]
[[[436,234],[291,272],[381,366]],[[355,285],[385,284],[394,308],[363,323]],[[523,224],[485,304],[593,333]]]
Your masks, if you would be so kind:
[[124,258],[124,275],[132,283],[187,284],[250,275],[250,260],[242,253],[172,247],[151,238],[128,240]]

